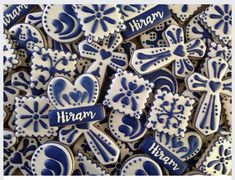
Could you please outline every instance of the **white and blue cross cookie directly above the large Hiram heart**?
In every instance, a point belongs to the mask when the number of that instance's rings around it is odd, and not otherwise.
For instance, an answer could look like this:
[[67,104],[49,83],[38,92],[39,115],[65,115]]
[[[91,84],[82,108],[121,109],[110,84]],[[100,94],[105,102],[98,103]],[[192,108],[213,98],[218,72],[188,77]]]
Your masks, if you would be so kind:
[[118,33],[105,38],[102,45],[95,42],[88,44],[87,40],[79,44],[80,55],[95,60],[87,73],[93,74],[99,80],[100,87],[105,79],[107,68],[117,71],[118,68],[125,70],[128,66],[127,54],[115,51],[122,41],[122,36]]

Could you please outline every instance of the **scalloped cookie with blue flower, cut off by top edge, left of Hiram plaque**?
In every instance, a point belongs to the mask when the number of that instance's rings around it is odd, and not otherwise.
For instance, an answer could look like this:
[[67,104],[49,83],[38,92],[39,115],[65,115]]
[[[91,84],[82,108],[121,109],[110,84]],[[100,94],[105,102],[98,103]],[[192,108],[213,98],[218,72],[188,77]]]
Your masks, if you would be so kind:
[[122,14],[116,5],[74,5],[74,11],[89,43],[102,40],[125,28]]

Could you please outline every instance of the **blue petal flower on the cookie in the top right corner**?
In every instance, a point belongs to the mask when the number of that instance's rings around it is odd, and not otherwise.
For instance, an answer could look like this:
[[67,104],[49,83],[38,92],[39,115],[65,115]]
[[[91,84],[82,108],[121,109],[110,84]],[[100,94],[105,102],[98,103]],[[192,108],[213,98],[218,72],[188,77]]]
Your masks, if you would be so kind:
[[223,26],[223,32],[228,33],[229,26],[232,25],[232,10],[229,8],[229,5],[215,6],[216,13],[210,14],[211,19],[216,19],[214,28],[219,29]]

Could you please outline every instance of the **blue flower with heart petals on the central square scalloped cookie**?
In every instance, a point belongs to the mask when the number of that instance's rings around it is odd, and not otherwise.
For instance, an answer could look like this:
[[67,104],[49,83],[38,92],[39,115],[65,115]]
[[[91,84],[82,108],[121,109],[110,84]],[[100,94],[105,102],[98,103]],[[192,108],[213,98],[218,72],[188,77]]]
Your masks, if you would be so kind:
[[131,104],[131,109],[135,111],[137,109],[137,99],[139,96],[137,94],[144,91],[144,85],[138,86],[136,82],[127,83],[126,78],[121,78],[121,89],[120,93],[113,97],[114,102],[121,101],[123,107]]

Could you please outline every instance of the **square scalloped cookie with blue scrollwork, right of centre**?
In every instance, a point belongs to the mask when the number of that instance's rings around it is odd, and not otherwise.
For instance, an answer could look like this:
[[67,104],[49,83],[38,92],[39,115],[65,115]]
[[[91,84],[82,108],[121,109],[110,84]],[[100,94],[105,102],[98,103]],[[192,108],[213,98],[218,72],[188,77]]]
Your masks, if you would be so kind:
[[146,127],[154,131],[184,137],[194,100],[158,90]]

